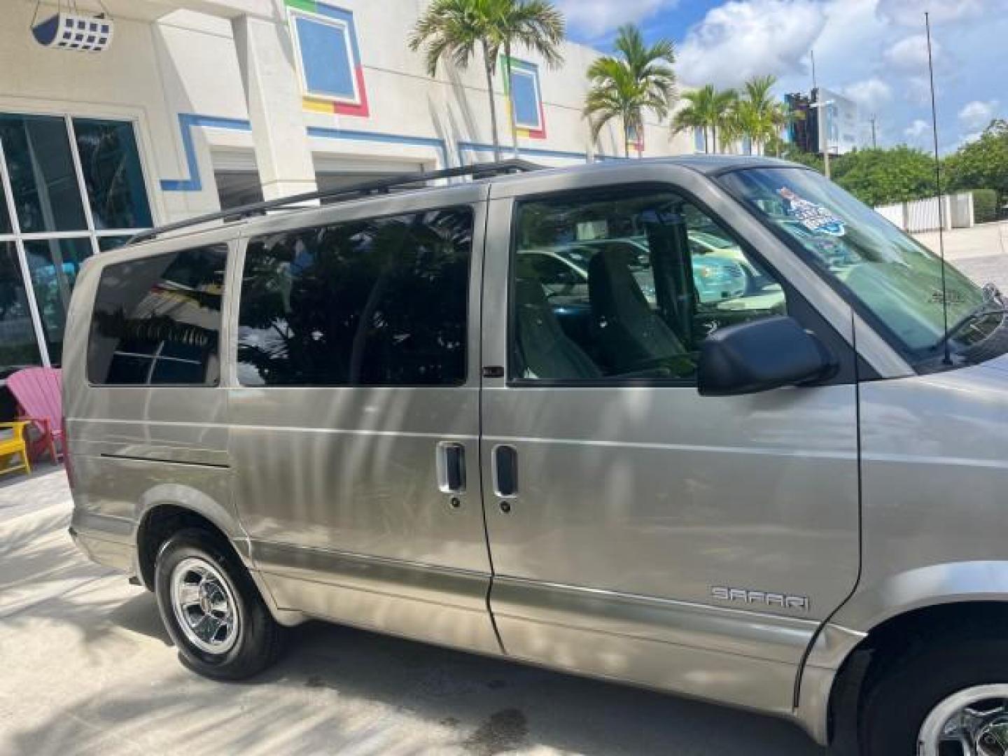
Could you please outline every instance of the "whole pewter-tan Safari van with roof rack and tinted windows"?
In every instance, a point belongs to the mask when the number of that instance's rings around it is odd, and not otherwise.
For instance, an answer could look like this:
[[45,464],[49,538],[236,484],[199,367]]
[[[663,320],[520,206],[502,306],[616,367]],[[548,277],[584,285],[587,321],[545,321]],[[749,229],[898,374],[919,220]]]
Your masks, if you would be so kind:
[[791,163],[532,167],[90,260],[79,546],[211,677],[320,618],[869,756],[1008,752],[997,289]]

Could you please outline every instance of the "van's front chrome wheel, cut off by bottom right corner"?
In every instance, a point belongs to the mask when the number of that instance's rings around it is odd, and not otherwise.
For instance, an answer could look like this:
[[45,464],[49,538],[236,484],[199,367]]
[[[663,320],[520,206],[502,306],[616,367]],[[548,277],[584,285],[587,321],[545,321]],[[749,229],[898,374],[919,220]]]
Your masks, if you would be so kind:
[[1008,683],[953,694],[924,719],[917,756],[1008,756]]

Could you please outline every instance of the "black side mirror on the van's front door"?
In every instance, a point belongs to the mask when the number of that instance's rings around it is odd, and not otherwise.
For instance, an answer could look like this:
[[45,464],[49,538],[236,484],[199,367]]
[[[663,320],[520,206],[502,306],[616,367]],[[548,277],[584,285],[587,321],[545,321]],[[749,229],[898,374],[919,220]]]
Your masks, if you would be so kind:
[[754,394],[829,378],[837,361],[793,318],[779,316],[711,334],[701,345],[703,396]]

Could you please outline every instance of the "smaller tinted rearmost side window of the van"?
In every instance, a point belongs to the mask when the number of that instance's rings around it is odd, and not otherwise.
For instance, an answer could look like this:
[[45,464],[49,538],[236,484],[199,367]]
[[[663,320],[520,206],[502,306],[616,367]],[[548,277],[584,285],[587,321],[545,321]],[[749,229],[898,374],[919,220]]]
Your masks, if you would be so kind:
[[227,259],[227,245],[215,244],[105,268],[91,321],[88,380],[217,385]]

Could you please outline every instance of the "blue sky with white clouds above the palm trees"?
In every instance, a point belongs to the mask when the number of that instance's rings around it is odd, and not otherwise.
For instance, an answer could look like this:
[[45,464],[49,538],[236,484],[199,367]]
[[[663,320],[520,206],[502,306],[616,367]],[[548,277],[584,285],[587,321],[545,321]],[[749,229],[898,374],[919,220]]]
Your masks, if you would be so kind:
[[554,0],[570,36],[610,48],[636,22],[677,49],[684,86],[737,87],[773,74],[778,91],[822,86],[858,103],[863,138],[877,116],[883,145],[930,144],[923,13],[931,13],[943,152],[1008,118],[1008,0]]

